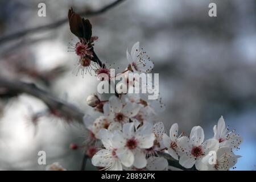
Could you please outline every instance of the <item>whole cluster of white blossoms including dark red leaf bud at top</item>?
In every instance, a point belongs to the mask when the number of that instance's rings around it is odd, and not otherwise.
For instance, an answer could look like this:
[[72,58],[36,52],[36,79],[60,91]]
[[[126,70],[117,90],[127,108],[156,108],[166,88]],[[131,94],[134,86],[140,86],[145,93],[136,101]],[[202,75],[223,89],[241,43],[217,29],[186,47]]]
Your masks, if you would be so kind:
[[[81,19],[71,9],[69,24],[71,32],[80,39],[73,49],[79,56],[77,67],[82,68],[82,75],[94,71],[99,80],[101,73],[109,76],[109,69],[93,50],[96,37],[92,36],[89,20]],[[126,57],[127,68],[119,75],[150,73],[154,68],[139,42],[134,44],[131,52],[127,50]],[[126,77],[125,82],[130,84],[133,80]],[[167,170],[176,161],[183,168],[195,166],[197,170],[234,167],[240,156],[233,151],[238,149],[242,139],[228,130],[223,117],[213,127],[214,136],[208,140],[204,140],[204,130],[200,126],[193,127],[189,136],[179,134],[177,123],[171,126],[167,135],[163,122],[158,119],[164,110],[161,98],[147,100],[145,95],[116,93],[102,101],[94,94],[86,99],[89,106],[102,113],[96,119],[88,114],[84,116],[89,131],[86,154],[92,157],[94,166],[105,170]],[[170,158],[173,160],[167,160]]]

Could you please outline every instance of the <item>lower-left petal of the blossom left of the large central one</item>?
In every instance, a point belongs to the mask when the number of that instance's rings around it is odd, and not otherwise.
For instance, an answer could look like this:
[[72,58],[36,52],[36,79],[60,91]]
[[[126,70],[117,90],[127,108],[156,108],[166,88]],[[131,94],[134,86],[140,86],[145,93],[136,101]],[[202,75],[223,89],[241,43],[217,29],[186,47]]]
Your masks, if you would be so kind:
[[93,156],[92,164],[93,166],[106,167],[109,166],[112,159],[111,151],[102,149]]

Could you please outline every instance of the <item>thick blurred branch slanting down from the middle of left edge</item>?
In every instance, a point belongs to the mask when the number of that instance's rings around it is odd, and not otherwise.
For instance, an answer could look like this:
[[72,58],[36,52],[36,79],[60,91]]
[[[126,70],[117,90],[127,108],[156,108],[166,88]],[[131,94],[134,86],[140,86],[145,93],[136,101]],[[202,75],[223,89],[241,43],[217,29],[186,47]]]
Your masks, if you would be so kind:
[[[0,88],[6,89],[7,93],[27,93],[42,100],[49,109],[58,116],[64,117],[68,121],[76,120],[82,123],[84,114],[75,105],[60,100],[52,94],[39,89],[35,84],[28,84],[21,81],[9,80],[0,76]],[[56,113],[57,112],[57,113]]]

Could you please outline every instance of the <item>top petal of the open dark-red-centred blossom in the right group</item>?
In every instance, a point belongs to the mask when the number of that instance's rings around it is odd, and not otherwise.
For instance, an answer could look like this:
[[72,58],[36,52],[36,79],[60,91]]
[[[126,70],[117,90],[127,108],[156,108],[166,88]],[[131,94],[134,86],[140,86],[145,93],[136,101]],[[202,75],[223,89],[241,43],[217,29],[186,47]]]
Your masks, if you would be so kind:
[[201,126],[194,126],[191,130],[190,137],[193,146],[200,146],[204,142],[204,130]]

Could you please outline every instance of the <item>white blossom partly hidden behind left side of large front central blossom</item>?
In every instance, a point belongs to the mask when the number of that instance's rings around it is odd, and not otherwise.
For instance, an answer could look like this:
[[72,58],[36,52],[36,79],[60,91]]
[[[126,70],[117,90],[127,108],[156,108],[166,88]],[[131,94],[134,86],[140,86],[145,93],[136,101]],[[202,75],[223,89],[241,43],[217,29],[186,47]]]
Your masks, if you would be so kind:
[[98,151],[92,158],[93,166],[103,167],[104,170],[121,171],[122,163],[117,156],[118,143],[113,140],[113,133],[102,129],[98,134],[104,149]]

